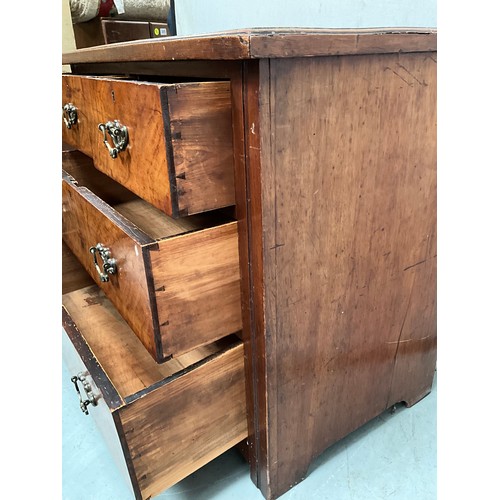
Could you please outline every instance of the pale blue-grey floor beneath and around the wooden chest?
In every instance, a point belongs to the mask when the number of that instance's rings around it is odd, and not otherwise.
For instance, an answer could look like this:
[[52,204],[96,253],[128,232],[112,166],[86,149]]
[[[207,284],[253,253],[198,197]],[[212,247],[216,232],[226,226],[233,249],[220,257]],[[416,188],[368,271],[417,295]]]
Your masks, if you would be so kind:
[[[80,411],[63,366],[62,492],[64,500],[133,500],[92,418]],[[280,500],[434,500],[437,497],[437,377],[412,408],[385,412],[331,446],[307,478]],[[163,500],[262,500],[249,466],[229,450],[177,485]]]

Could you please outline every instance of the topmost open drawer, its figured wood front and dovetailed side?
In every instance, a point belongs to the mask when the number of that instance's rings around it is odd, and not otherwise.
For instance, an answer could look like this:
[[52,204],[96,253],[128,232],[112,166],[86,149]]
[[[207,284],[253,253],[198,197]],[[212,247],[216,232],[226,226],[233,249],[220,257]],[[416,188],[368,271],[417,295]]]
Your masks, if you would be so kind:
[[[91,116],[88,137],[99,170],[173,217],[234,205],[228,82],[64,80],[85,95],[81,106]],[[113,133],[126,135],[126,146],[111,154]],[[89,147],[86,139],[82,148]]]

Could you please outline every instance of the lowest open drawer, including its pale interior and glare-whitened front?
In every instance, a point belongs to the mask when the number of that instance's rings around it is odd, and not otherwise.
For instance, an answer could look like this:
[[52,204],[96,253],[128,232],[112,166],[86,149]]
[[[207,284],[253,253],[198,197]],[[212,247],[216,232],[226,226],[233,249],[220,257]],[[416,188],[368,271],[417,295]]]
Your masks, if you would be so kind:
[[157,364],[97,286],[63,295],[62,316],[75,404],[93,416],[136,498],[157,495],[247,436],[237,337]]

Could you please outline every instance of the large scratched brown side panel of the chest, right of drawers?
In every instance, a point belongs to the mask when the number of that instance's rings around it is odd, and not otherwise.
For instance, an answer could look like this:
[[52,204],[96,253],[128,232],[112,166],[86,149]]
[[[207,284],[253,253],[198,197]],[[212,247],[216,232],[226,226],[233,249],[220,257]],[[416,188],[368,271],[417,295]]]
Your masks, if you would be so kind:
[[247,190],[262,207],[250,204],[247,221],[253,329],[265,341],[253,344],[262,376],[248,407],[267,498],[395,401],[430,391],[435,57],[261,63]]

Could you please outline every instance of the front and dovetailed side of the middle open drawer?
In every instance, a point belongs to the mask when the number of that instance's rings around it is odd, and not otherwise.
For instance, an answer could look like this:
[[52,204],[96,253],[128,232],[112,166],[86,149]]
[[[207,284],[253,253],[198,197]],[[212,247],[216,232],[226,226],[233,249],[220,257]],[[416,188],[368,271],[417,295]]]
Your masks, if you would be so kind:
[[[158,362],[241,330],[236,222],[153,239],[69,175],[62,184],[64,242]],[[98,244],[115,262],[108,281]]]

